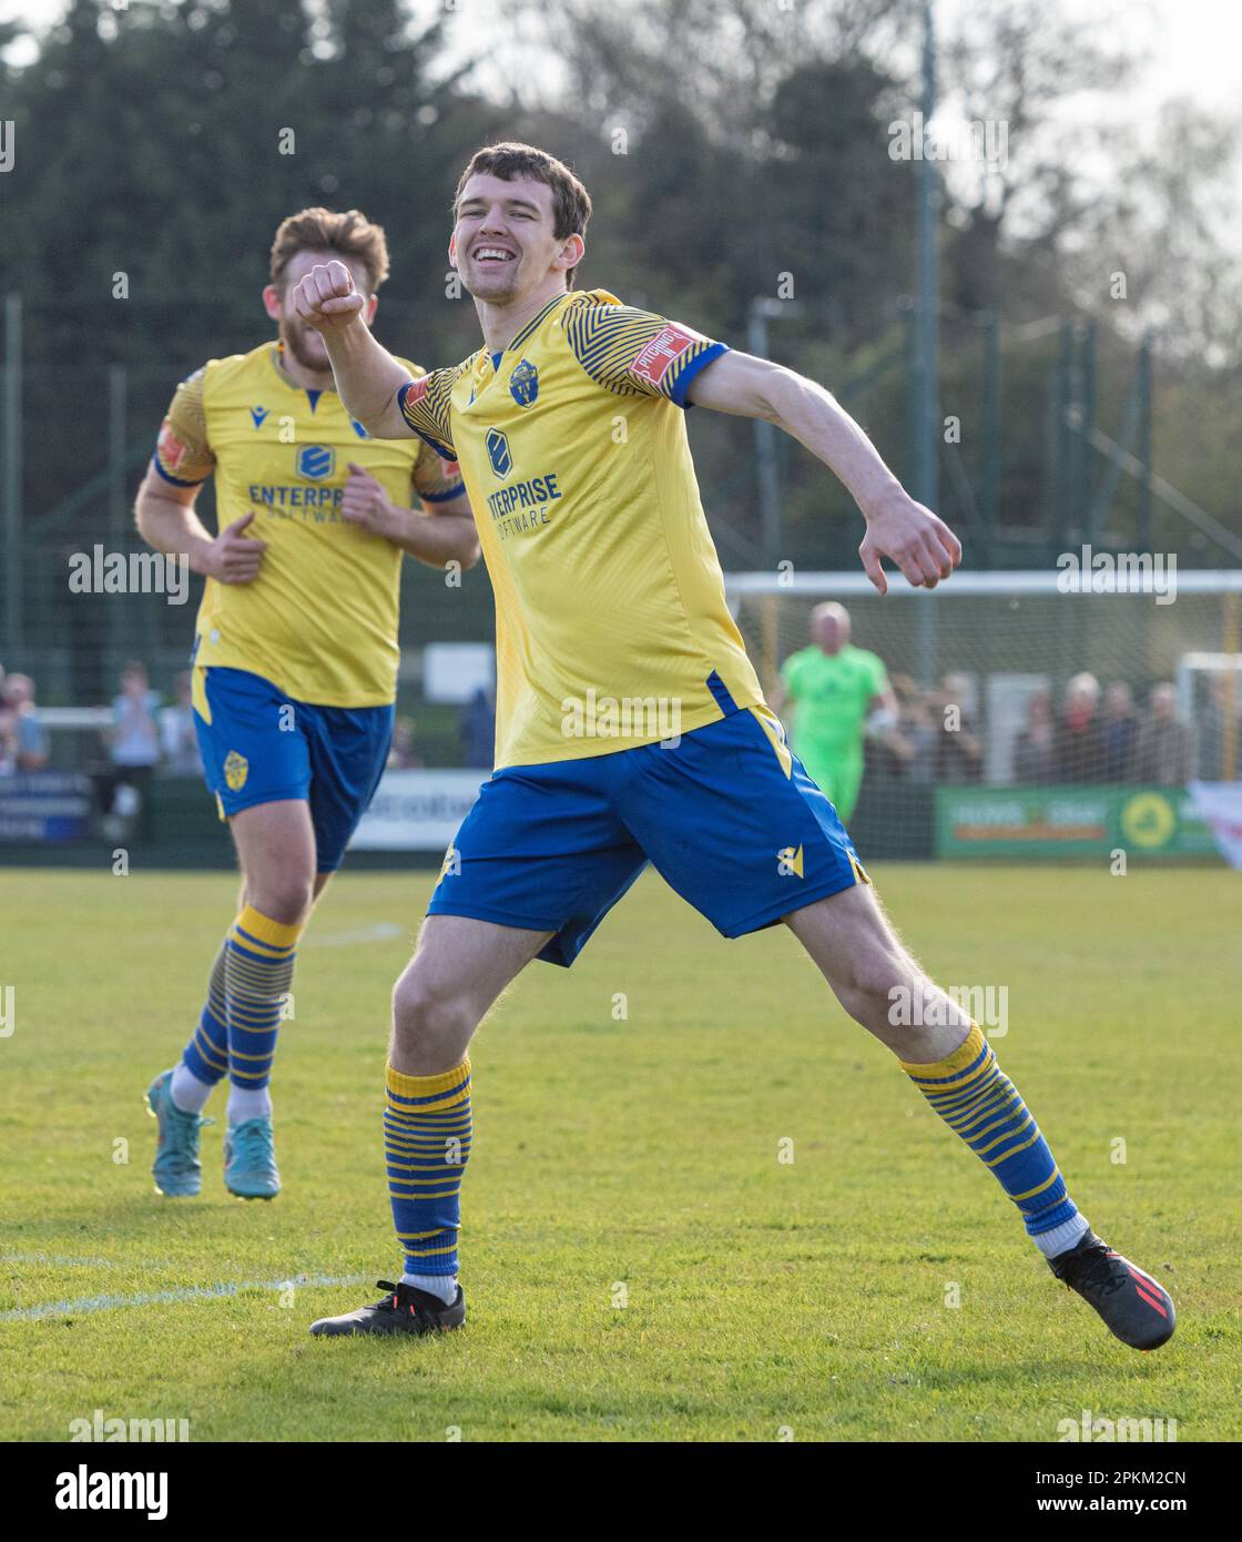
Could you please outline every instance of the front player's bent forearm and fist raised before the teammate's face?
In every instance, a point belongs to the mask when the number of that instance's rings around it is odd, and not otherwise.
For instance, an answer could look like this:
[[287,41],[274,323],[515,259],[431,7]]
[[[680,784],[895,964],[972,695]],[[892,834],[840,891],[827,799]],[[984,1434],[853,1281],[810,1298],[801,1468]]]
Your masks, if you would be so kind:
[[293,291],[297,315],[324,338],[336,389],[348,413],[376,439],[408,439],[413,429],[398,402],[410,375],[376,342],[362,319],[365,296],[357,293],[344,262],[313,267]]

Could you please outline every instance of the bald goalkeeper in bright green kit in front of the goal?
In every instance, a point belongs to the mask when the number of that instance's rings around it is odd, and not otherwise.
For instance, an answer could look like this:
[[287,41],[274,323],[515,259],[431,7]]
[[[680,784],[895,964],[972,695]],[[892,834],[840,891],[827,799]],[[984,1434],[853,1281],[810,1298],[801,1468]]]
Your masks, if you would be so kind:
[[791,654],[772,705],[794,706],[794,752],[848,823],[863,785],[863,740],[897,728],[897,695],[878,654],[849,640],[849,611],[811,612],[811,646]]

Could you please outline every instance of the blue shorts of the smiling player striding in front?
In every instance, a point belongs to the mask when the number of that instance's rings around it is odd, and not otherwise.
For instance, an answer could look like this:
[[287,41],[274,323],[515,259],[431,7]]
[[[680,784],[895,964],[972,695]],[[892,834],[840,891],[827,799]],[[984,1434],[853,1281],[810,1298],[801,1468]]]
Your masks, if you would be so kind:
[[758,706],[667,745],[496,771],[427,913],[553,931],[539,958],[567,967],[647,862],[726,938],[871,882]]

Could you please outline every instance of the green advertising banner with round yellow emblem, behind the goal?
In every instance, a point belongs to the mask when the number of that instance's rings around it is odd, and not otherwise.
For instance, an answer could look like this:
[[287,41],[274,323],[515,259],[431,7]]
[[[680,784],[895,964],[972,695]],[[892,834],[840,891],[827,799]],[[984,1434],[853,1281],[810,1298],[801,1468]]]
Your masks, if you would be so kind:
[[938,857],[1214,856],[1179,786],[938,786]]

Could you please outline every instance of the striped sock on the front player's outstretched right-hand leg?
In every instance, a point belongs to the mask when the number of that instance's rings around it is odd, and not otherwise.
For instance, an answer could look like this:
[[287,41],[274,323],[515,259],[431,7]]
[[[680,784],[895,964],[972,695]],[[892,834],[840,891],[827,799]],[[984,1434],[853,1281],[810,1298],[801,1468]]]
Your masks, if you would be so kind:
[[945,1059],[900,1066],[949,1129],[991,1169],[1022,1210],[1039,1251],[1054,1258],[1072,1247],[1086,1221],[1065,1192],[1048,1141],[1017,1087],[997,1066],[978,1024],[971,1024],[963,1042]]

